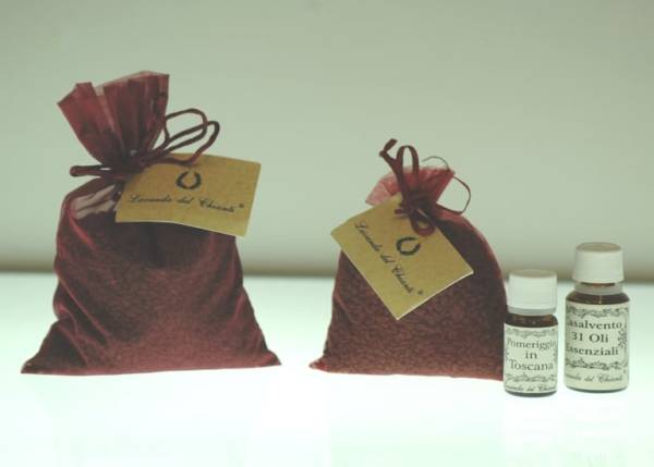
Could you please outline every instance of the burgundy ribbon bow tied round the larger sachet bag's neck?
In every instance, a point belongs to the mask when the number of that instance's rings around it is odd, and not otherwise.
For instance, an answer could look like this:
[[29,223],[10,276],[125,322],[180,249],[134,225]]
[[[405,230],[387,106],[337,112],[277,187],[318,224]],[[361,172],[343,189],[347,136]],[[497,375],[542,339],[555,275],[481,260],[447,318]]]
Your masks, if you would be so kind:
[[[177,116],[184,114],[195,114],[202,120],[197,125],[191,126],[190,128],[183,130],[174,135],[170,135],[168,131],[168,122]],[[184,146],[202,140],[209,128],[213,128],[208,139],[199,146],[195,152],[186,159],[173,159],[167,158],[168,155],[180,149]],[[186,109],[178,112],[169,113],[164,118],[162,128],[164,140],[150,149],[144,151],[133,151],[121,158],[120,163],[112,164],[99,164],[99,165],[73,165],[71,167],[72,176],[94,175],[112,181],[123,182],[131,174],[142,172],[149,165],[155,163],[171,163],[175,165],[191,165],[197,160],[202,153],[214,144],[220,132],[220,124],[213,120],[207,120],[207,116],[202,110],[198,109]],[[155,130],[155,138],[160,130]],[[186,137],[189,136],[189,137]],[[186,137],[186,138],[185,138]],[[185,139],[182,139],[185,138]],[[182,139],[182,140],[180,140]],[[117,147],[119,145],[116,145]]]

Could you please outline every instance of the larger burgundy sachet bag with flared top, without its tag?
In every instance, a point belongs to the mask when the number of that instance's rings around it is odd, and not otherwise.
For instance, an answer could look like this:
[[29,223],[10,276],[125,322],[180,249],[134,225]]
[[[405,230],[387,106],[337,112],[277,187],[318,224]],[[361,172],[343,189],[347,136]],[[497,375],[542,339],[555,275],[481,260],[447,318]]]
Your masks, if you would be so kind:
[[[98,165],[63,200],[57,233],[57,321],[25,373],[112,374],[278,365],[247,294],[233,236],[172,223],[117,223],[123,182],[153,163],[191,164],[219,125],[190,109],[166,115],[168,75],[144,72],[59,106]],[[167,122],[201,123],[170,135]],[[162,142],[158,143],[158,138]],[[208,138],[208,139],[207,139]],[[205,139],[186,161],[167,156]]]

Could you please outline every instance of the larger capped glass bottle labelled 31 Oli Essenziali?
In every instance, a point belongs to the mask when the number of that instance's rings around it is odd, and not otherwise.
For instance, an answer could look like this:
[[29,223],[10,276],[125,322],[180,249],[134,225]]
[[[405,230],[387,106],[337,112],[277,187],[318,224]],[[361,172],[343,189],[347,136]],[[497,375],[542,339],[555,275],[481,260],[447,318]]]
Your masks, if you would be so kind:
[[622,293],[622,249],[613,243],[577,247],[574,291],[566,299],[568,388],[619,391],[629,384],[629,297]]

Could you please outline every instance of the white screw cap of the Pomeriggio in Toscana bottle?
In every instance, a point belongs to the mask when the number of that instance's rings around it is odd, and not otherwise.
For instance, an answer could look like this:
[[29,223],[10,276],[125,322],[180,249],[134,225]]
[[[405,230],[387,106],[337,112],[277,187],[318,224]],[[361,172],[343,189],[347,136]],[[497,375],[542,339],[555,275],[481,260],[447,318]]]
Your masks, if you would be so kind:
[[509,273],[508,305],[521,310],[556,308],[556,273],[541,269],[521,269]]

